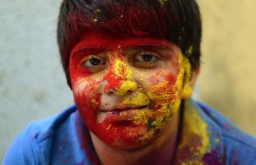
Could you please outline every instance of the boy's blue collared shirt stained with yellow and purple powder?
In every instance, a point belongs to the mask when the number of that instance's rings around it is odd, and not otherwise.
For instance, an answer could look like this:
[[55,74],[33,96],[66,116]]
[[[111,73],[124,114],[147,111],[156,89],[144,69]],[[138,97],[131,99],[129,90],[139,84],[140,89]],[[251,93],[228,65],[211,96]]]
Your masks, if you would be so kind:
[[[214,109],[184,101],[170,164],[256,164],[256,140]],[[75,105],[31,122],[10,145],[3,164],[99,164]]]

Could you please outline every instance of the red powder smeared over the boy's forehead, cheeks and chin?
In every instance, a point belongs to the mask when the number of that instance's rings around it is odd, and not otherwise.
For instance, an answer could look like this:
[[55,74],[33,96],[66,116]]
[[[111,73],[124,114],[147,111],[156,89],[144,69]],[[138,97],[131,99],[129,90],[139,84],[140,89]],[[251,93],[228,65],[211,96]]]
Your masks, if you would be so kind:
[[[102,94],[108,93],[109,90],[117,90],[120,86],[120,82],[127,80],[127,77],[129,77],[126,75],[126,65],[124,63],[120,65],[117,64],[117,61],[123,62],[125,60],[123,50],[127,47],[148,45],[172,47],[171,43],[163,39],[155,39],[152,37],[118,39],[100,32],[91,32],[84,36],[84,39],[72,50],[70,56],[70,77],[77,109],[79,109],[81,119],[88,129],[108,144],[126,146],[139,145],[142,143],[139,140],[140,137],[148,132],[147,122],[133,123],[129,120],[117,121],[115,118],[117,118],[118,115],[113,114],[108,114],[103,122],[97,122],[97,114],[101,111],[99,107],[101,106]],[[101,74],[91,73],[88,68],[81,65],[81,59],[84,58],[83,56],[93,54],[88,54],[88,52],[84,54],[76,52],[86,52],[87,48],[89,48],[90,51],[93,50],[92,52],[104,50],[104,52],[112,53],[108,68],[102,71]],[[151,76],[150,82],[153,85],[161,83],[160,81],[162,80],[164,82],[168,81],[168,84],[161,90],[156,91],[155,94],[173,94],[172,85],[176,80],[175,74],[176,72],[172,75],[171,72],[162,72],[161,69],[159,69],[156,75]],[[94,75],[98,75],[98,77],[96,78]],[[103,89],[104,93],[101,93],[102,91],[100,91],[100,89]],[[112,102],[109,103],[111,104]],[[152,110],[156,111],[159,108],[161,108],[161,105],[155,106]]]

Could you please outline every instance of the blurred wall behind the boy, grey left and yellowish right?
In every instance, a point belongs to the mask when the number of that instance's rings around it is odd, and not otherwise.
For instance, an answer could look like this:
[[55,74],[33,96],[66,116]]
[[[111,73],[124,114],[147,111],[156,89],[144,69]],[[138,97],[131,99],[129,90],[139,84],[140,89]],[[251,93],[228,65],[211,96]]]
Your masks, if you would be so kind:
[[[0,1],[0,160],[31,120],[72,104],[56,45],[61,0]],[[256,136],[256,1],[198,0],[202,64],[194,98]]]

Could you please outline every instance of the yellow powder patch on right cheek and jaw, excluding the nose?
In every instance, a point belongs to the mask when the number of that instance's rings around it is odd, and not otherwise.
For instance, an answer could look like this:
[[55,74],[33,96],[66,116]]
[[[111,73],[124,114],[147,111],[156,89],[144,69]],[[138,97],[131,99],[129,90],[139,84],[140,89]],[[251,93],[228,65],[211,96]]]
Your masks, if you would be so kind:
[[[180,53],[179,74],[177,75],[175,84],[173,86],[168,86],[169,82],[159,83],[148,90],[147,94],[150,100],[161,105],[161,108],[154,112],[152,112],[152,110],[147,113],[140,111],[137,112],[138,120],[144,123],[150,122],[151,126],[150,131],[140,137],[141,141],[152,139],[155,131],[164,129],[166,123],[170,119],[170,116],[179,109],[182,96],[190,96],[191,93],[189,91],[191,90],[189,85],[187,85],[190,80],[190,68],[189,60],[183,57],[182,53]],[[184,89],[184,86],[187,86],[186,89]],[[180,96],[180,93],[182,93],[182,96]]]

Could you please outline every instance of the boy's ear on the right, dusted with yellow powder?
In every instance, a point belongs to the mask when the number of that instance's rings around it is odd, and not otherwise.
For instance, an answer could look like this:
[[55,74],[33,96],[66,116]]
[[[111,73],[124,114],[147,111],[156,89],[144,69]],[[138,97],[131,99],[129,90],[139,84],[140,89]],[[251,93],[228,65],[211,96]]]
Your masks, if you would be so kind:
[[[184,82],[184,86],[182,89],[182,98],[183,99],[189,98],[192,95],[199,73],[200,73],[200,64],[198,64],[195,67],[195,69],[191,72],[190,80],[188,82]],[[188,73],[186,73],[186,74],[188,74]],[[186,76],[188,76],[188,75],[186,75]]]

